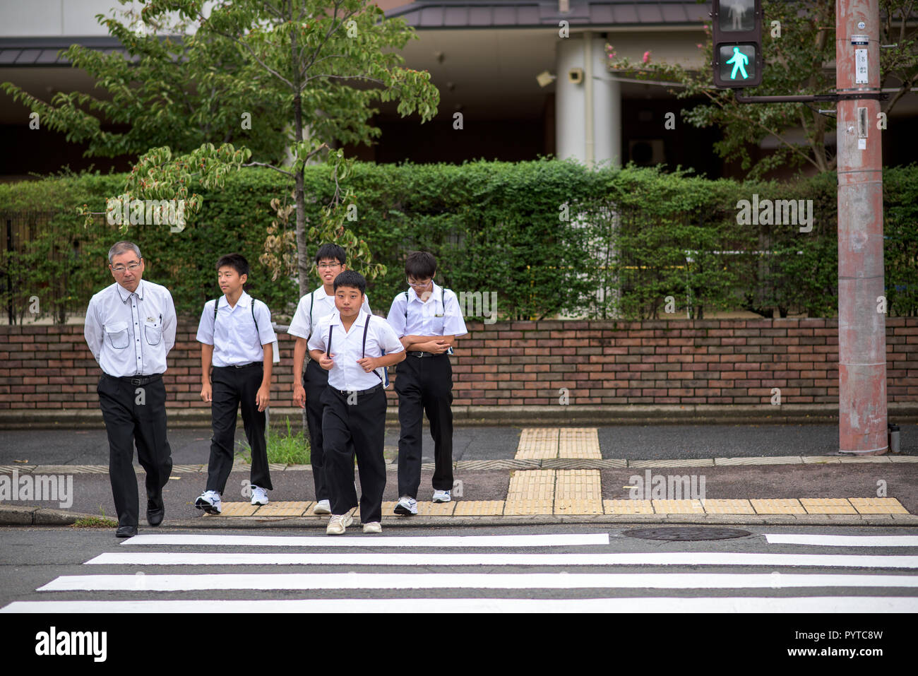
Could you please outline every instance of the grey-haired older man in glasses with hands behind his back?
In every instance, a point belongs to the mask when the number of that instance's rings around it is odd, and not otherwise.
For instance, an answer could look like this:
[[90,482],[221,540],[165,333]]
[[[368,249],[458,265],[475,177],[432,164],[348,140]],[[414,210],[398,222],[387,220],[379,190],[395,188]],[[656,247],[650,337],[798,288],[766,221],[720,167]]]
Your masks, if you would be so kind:
[[140,500],[134,444],[147,473],[147,523],[162,523],[162,487],[172,472],[166,440],[166,393],[162,374],[175,344],[175,306],[169,289],[143,280],[143,257],[133,242],[108,251],[115,283],[99,291],[86,310],[86,344],[102,368],[96,391],[108,433],[118,537],[137,535]]

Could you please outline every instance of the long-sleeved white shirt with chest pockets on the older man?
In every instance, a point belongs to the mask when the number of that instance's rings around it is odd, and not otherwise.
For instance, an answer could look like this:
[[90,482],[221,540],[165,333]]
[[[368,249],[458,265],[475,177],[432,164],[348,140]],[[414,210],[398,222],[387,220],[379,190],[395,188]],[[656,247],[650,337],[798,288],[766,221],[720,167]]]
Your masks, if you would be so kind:
[[116,282],[89,300],[83,332],[109,376],[164,373],[166,355],[175,344],[172,294],[145,279],[133,293]]

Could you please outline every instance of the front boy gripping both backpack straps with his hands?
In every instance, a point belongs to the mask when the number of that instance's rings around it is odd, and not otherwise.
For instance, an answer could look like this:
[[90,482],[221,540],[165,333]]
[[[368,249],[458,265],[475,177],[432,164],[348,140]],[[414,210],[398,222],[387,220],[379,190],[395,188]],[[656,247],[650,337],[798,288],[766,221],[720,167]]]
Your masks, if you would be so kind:
[[379,369],[404,359],[405,349],[387,321],[362,310],[365,289],[364,276],[353,270],[335,277],[338,311],[317,323],[308,343],[309,356],[329,373],[322,394],[325,476],[331,496],[328,535],[341,535],[353,523],[355,453],[364,533],[382,532],[386,391]]

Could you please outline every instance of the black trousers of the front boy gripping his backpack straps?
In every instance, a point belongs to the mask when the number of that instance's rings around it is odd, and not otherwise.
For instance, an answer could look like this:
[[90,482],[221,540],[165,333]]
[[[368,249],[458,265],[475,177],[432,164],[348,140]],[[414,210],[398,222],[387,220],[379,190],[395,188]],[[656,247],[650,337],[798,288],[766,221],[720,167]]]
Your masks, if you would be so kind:
[[[357,506],[353,487],[353,456],[357,454],[360,475],[360,520],[380,521],[383,490],[386,489],[386,461],[383,436],[386,433],[386,390],[382,385],[360,392],[341,392],[328,387],[322,394],[322,436],[325,450],[325,479],[331,493],[331,513],[344,514]],[[353,446],[349,443],[353,442]]]

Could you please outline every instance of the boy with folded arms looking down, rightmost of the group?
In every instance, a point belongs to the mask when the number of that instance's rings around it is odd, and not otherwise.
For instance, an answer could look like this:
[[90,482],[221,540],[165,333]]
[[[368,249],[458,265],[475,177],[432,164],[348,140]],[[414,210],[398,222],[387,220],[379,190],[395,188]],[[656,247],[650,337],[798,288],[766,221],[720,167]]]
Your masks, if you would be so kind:
[[405,260],[409,290],[392,301],[386,318],[405,346],[396,367],[398,393],[398,504],[395,513],[418,513],[421,424],[424,411],[433,438],[433,501],[449,502],[453,490],[453,367],[456,337],[465,335],[459,299],[433,282],[437,259],[419,251]]

